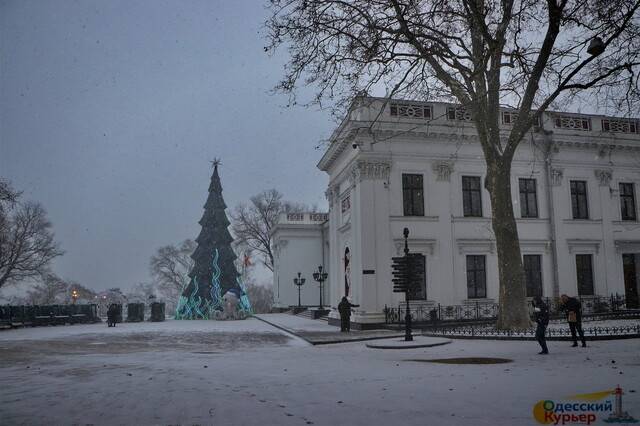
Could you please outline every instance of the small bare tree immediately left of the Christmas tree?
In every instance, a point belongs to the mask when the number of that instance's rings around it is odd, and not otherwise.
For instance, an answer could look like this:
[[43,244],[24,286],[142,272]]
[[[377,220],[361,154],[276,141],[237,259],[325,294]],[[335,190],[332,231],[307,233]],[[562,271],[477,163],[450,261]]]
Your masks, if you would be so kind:
[[178,297],[189,280],[188,274],[193,267],[191,255],[195,249],[196,242],[186,239],[179,246],[168,245],[156,250],[149,269],[160,290]]

